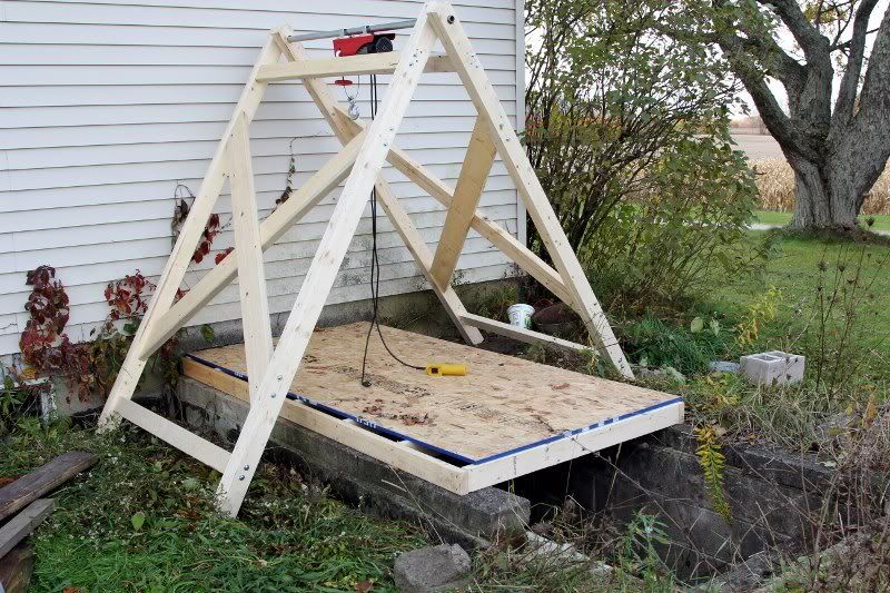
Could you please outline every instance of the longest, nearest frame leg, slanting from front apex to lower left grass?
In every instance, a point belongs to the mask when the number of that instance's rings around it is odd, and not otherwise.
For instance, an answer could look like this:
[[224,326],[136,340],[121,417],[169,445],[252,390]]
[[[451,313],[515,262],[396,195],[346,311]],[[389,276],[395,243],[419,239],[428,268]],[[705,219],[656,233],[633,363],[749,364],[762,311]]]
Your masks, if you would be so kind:
[[435,33],[429,28],[424,12],[417,19],[414,32],[403,51],[403,59],[399,60],[393,75],[380,113],[368,128],[367,138],[359,150],[353,174],[334,207],[318,253],[309,266],[278,346],[263,377],[258,402],[250,407],[238,442],[231,452],[217,491],[224,512],[235,515],[240,508],[247,486],[280,413],[287,389],[294,380],[318,316],[334,285],[337,270],[358,227],[364,210],[362,205],[383,167],[434,41]]

